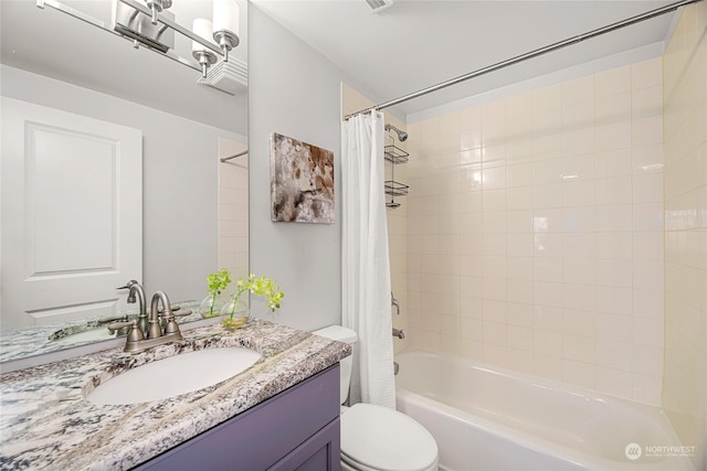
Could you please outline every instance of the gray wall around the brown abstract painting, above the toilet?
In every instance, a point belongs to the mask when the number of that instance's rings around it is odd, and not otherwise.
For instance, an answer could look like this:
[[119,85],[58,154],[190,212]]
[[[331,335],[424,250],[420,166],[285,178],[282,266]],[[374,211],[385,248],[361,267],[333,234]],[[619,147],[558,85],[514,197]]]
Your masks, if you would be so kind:
[[[339,323],[340,83],[352,81],[253,4],[249,34],[251,271],[274,278],[285,292],[268,319],[303,330]],[[335,224],[271,222],[271,132],[334,152]]]

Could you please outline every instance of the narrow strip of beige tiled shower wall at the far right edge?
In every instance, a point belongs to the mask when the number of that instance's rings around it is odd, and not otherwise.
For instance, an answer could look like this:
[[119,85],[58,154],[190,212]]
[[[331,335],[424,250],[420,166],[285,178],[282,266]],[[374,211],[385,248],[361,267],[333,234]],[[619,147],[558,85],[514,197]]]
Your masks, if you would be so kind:
[[664,55],[663,406],[707,467],[707,3],[687,7]]

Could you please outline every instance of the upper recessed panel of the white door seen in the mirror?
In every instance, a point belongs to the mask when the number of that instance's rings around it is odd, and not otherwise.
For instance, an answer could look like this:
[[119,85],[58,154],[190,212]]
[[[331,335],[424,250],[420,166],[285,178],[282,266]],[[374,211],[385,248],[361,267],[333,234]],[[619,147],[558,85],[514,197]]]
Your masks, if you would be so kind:
[[27,130],[30,279],[114,270],[118,142],[35,122]]

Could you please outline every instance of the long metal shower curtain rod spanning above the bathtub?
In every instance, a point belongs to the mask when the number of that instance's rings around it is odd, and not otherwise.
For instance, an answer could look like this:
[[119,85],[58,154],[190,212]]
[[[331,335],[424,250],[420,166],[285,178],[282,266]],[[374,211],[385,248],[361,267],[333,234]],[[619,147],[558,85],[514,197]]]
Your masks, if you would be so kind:
[[552,43],[552,44],[549,44],[547,46],[544,46],[544,47],[527,52],[525,54],[517,55],[517,56],[508,58],[506,61],[497,62],[496,64],[488,65],[488,66],[483,67],[483,68],[478,68],[478,69],[476,69],[474,72],[469,72],[469,73],[464,74],[464,75],[460,75],[458,77],[452,78],[452,79],[446,81],[446,82],[442,82],[442,83],[436,84],[436,85],[432,85],[432,86],[430,86],[428,88],[423,88],[421,90],[408,94],[408,95],[402,96],[400,98],[395,98],[395,99],[392,99],[390,101],[382,103],[380,105],[371,106],[370,108],[361,109],[360,111],[356,111],[356,113],[352,113],[350,115],[346,115],[344,117],[344,119],[349,119],[349,118],[351,118],[351,117],[354,117],[356,115],[360,115],[362,113],[368,113],[368,111],[371,111],[371,110],[381,110],[381,109],[384,109],[384,108],[390,108],[391,106],[400,105],[401,103],[409,101],[411,99],[421,97],[423,95],[428,95],[428,94],[431,94],[433,92],[437,92],[437,90],[440,90],[442,88],[446,88],[449,86],[456,85],[456,84],[458,84],[461,82],[465,82],[465,81],[468,81],[471,78],[478,77],[479,75],[488,74],[490,72],[498,71],[498,69],[504,68],[504,67],[508,67],[509,65],[514,65],[514,64],[517,64],[519,62],[528,61],[530,58],[538,57],[540,55],[544,55],[544,54],[560,50],[562,47],[567,47],[569,45],[578,44],[578,43],[580,43],[582,41],[590,40],[592,38],[597,38],[597,36],[602,35],[602,34],[611,33],[612,31],[616,31],[616,30],[620,30],[620,29],[625,28],[625,26],[631,26],[632,24],[640,23],[640,22],[645,21],[645,20],[651,20],[652,18],[656,18],[656,17],[663,15],[665,13],[669,13],[672,11],[677,10],[680,7],[685,7],[685,6],[690,4],[690,3],[697,3],[699,1],[701,1],[701,0],[680,0],[680,1],[676,1],[674,3],[667,4],[667,6],[664,6],[664,7],[661,7],[661,8],[656,8],[654,10],[650,10],[650,11],[646,11],[646,12],[641,13],[641,14],[636,14],[635,17],[631,17],[631,18],[627,18],[625,20],[618,21],[618,22],[609,24],[606,26],[602,26],[602,28],[599,28],[597,30],[589,31],[589,32],[587,32],[584,34],[579,34],[577,36],[572,36],[572,38],[569,38],[567,40],[559,41],[557,43]]

